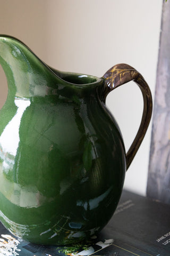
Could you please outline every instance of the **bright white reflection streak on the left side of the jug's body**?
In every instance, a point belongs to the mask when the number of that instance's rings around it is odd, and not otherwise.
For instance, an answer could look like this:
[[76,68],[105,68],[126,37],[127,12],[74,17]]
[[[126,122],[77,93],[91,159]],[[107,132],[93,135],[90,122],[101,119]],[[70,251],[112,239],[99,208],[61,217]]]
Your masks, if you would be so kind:
[[12,120],[6,125],[0,138],[0,145],[2,146],[3,152],[10,153],[13,156],[16,155],[20,141],[19,127],[21,117],[24,110],[30,105],[30,100],[16,98],[15,105],[18,107],[18,110]]

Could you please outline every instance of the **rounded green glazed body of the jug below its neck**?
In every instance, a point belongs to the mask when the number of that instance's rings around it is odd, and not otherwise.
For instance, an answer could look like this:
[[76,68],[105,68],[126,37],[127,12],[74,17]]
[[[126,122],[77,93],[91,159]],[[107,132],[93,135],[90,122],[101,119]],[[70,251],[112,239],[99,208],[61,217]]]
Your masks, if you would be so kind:
[[2,223],[32,243],[96,234],[124,182],[125,151],[113,117],[94,94],[69,103],[14,101],[18,109],[0,137]]

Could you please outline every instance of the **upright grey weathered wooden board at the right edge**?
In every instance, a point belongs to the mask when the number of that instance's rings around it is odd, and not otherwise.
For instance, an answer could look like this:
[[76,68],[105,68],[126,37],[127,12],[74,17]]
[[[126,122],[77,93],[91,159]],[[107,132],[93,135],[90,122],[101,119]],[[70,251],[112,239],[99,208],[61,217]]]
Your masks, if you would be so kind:
[[170,1],[163,3],[147,196],[170,204]]

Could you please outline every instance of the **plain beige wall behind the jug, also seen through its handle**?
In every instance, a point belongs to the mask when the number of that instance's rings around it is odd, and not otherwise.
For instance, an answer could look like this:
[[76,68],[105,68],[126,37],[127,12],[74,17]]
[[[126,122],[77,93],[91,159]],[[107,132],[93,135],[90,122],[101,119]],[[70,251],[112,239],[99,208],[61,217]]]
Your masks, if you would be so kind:
[[[155,90],[162,0],[0,0],[0,33],[15,36],[63,71],[103,76],[116,63],[135,67]],[[1,106],[6,81],[0,69]],[[142,98],[129,83],[107,105],[129,148],[138,130]],[[125,188],[146,194],[150,130],[130,166]]]

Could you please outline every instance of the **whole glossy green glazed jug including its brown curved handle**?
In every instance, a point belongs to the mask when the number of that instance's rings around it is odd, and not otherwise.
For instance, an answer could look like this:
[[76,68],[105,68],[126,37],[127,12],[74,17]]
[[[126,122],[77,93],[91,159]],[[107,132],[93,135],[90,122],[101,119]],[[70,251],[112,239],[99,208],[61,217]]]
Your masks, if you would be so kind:
[[[0,113],[0,220],[31,243],[64,245],[111,219],[125,172],[151,118],[149,87],[126,64],[101,77],[48,67],[18,39],[0,35],[8,95]],[[134,81],[143,95],[138,133],[125,152],[105,100]]]

